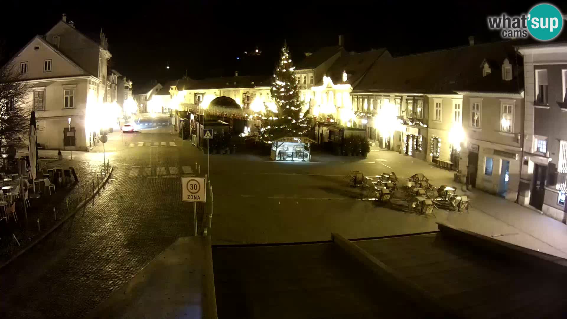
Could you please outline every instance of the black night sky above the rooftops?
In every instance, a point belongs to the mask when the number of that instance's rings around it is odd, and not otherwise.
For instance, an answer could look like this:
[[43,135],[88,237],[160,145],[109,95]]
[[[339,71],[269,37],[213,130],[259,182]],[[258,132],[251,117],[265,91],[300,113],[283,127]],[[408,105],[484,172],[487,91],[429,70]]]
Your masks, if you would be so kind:
[[[348,51],[387,47],[393,55],[466,45],[469,35],[476,41],[499,40],[497,32],[488,31],[486,15],[519,14],[539,2],[343,1],[338,6],[327,1],[158,1],[149,5],[106,1],[93,2],[88,9],[60,1],[42,3],[3,8],[2,61],[66,13],[67,21],[75,22],[87,35],[98,37],[103,29],[112,67],[136,87],[151,79],[180,78],[185,70],[196,79],[231,75],[236,70],[240,75],[271,74],[284,41],[298,61],[303,52],[336,45],[339,34],[344,35]],[[278,4],[286,7],[277,9]],[[567,11],[565,5],[555,5]],[[256,46],[262,51],[260,57],[244,54]]]

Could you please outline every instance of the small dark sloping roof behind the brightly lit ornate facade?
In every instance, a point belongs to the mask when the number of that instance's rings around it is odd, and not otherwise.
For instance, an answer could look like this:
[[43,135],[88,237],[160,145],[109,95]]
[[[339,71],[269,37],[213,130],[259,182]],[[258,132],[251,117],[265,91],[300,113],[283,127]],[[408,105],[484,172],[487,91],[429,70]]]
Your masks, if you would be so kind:
[[[333,84],[350,84],[354,86],[384,52],[386,52],[386,49],[377,49],[341,56],[333,63],[331,68],[327,70],[325,75],[331,78]],[[347,74],[346,81],[342,81],[342,72],[346,72]],[[323,79],[321,79],[318,85],[322,83]]]

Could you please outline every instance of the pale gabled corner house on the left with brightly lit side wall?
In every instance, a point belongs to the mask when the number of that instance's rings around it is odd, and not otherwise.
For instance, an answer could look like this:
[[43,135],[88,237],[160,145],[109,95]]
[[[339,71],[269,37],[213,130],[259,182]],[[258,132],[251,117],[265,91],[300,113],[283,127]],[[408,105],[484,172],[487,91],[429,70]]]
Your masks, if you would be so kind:
[[[11,58],[8,63],[30,87],[27,106],[36,111],[41,146],[87,151],[98,143],[101,128],[113,126],[109,110],[101,107],[111,56],[104,33],[94,41],[63,15]],[[69,127],[74,134],[67,134]]]

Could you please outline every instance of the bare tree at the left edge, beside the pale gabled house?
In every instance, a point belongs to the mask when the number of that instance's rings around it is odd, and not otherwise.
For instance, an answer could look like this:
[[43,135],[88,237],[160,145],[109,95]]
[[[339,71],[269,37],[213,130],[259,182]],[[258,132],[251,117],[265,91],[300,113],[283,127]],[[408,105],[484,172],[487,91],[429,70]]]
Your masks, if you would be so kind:
[[0,68],[0,154],[10,157],[26,146],[31,113],[26,106],[29,86],[19,68],[13,63]]

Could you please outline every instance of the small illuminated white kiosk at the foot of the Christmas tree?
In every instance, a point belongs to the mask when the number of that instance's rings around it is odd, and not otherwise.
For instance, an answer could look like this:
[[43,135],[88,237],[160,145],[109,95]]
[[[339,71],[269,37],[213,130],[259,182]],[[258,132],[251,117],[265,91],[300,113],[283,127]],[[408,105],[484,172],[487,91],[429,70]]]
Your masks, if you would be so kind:
[[281,137],[272,142],[270,159],[272,161],[308,162],[311,140],[308,137]]

